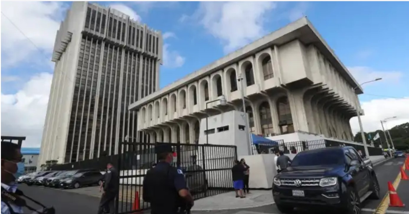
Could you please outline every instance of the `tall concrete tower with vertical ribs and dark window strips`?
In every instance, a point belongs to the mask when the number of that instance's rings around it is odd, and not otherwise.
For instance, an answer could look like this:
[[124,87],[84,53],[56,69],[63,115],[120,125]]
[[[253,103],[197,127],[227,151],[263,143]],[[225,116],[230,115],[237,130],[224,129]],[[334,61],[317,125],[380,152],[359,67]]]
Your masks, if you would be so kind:
[[116,154],[137,138],[128,105],[159,89],[163,40],[124,13],[73,2],[57,32],[38,167]]

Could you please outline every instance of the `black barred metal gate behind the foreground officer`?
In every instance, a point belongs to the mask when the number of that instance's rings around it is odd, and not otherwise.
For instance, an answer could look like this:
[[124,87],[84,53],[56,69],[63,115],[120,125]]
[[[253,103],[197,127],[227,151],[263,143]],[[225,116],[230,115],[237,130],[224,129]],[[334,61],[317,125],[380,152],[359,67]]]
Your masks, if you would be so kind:
[[[156,143],[128,143],[119,145],[118,214],[128,214],[150,207],[142,199],[142,184],[148,170],[157,162]],[[237,147],[212,144],[171,143],[173,166],[184,172],[193,198],[229,192],[232,188],[231,168],[237,159]]]

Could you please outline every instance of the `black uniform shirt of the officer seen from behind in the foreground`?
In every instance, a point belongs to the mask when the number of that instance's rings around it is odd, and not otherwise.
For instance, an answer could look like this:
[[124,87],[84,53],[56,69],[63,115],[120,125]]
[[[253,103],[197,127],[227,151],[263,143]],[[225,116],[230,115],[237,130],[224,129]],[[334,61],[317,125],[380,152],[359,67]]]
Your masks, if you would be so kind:
[[144,178],[143,199],[151,203],[152,214],[173,214],[180,205],[179,190],[188,189],[182,170],[159,162]]

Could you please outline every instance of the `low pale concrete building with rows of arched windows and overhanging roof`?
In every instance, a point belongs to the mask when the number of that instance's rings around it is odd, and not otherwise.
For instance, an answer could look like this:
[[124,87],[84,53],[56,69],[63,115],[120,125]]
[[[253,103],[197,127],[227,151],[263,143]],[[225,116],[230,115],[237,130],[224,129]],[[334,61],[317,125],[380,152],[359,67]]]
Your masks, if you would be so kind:
[[[349,120],[357,115],[357,94],[363,91],[308,19],[301,18],[129,109],[137,111],[137,130],[148,133],[146,140],[191,143],[209,131],[200,129],[200,120],[243,111],[242,93],[249,131],[256,135],[303,132],[352,141]],[[226,105],[216,101],[223,97]]]

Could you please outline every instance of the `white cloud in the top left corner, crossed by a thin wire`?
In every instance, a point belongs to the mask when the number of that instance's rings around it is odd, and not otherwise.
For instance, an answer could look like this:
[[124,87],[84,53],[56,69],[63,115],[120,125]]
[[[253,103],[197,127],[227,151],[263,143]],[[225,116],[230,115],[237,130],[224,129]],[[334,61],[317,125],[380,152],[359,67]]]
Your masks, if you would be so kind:
[[2,68],[16,66],[23,60],[48,66],[51,59],[47,56],[54,46],[55,35],[65,9],[62,2],[2,1]]

